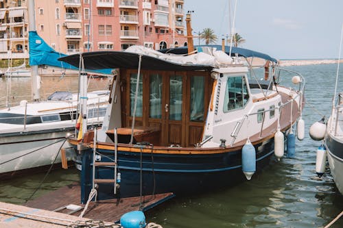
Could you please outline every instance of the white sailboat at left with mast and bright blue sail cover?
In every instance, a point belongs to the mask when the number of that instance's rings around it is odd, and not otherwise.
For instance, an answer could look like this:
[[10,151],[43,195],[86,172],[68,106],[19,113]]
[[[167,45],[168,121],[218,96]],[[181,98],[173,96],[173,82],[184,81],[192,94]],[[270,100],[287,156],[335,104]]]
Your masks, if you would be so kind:
[[[57,59],[66,56],[57,53],[38,36],[34,28],[34,0],[29,1],[29,55],[32,69],[32,94],[34,101],[21,101],[19,105],[0,110],[0,179],[44,170],[61,162],[63,149],[69,148],[66,139],[77,134],[78,120],[87,119],[88,127],[102,125],[109,91],[79,93],[56,91],[47,101],[40,101],[38,65],[60,66]],[[64,64],[68,67],[68,64]],[[69,68],[75,68],[69,66]],[[86,82],[86,81],[85,81]],[[86,84],[85,84],[86,86]],[[78,116],[78,101],[83,99],[88,105],[84,115]],[[66,151],[64,157],[71,160],[73,153]]]

